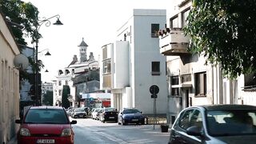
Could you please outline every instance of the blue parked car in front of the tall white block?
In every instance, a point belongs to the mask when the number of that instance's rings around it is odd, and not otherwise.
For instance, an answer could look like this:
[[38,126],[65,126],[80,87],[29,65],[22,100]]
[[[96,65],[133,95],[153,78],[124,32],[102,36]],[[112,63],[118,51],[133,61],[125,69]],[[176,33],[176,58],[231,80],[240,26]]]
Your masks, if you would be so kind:
[[128,123],[145,124],[145,116],[135,108],[126,108],[118,113],[118,124],[126,125]]

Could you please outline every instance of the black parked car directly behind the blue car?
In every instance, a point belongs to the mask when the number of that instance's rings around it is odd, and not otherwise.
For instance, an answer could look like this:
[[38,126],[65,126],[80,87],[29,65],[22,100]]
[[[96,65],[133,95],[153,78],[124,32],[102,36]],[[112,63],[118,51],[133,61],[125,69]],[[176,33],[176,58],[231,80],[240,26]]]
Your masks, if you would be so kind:
[[106,107],[102,109],[102,112],[99,113],[99,120],[101,122],[106,122],[106,121],[114,121],[118,122],[118,110],[113,107]]

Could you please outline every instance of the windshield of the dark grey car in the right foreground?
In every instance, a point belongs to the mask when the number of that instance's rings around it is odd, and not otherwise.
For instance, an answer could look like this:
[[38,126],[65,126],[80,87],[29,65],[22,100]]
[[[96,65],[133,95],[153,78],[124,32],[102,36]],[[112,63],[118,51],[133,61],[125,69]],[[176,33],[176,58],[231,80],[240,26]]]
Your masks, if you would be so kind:
[[256,134],[256,110],[213,110],[206,119],[212,136]]

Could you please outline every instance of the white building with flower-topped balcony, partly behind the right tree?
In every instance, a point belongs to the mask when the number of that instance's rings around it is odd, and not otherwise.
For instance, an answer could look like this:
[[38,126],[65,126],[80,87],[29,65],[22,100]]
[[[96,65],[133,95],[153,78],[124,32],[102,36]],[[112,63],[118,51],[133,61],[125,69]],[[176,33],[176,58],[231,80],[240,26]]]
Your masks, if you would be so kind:
[[160,53],[166,56],[170,119],[180,110],[206,104],[256,105],[255,74],[232,81],[224,78],[221,67],[208,65],[203,55],[188,53],[190,38],[182,27],[192,5],[190,0],[174,0],[166,28],[160,30]]

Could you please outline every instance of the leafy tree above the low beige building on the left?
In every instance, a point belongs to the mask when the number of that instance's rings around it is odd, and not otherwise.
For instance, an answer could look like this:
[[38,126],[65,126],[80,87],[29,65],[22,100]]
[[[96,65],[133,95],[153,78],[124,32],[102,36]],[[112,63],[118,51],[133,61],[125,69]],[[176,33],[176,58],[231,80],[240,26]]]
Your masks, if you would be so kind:
[[[5,14],[6,22],[15,22],[23,26],[23,29],[17,25],[9,25],[15,41],[18,43],[19,49],[22,51],[22,46],[26,46],[26,37],[31,38],[31,43],[35,42],[36,28],[38,25],[38,8],[30,2],[22,2],[21,0],[0,0],[0,8],[2,13]],[[38,34],[38,38],[42,38]],[[29,58],[32,69],[35,70],[34,58]],[[38,70],[43,68],[42,61],[38,61]],[[20,70],[20,82],[29,78],[29,74],[24,70]],[[21,86],[21,85],[20,85]]]

